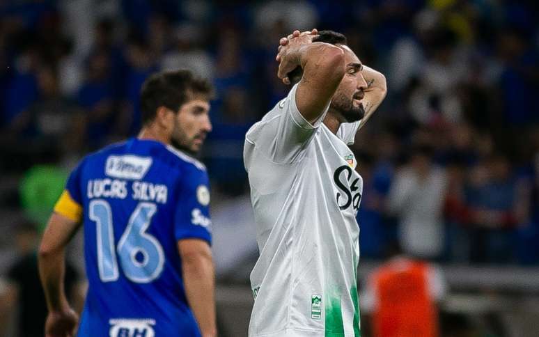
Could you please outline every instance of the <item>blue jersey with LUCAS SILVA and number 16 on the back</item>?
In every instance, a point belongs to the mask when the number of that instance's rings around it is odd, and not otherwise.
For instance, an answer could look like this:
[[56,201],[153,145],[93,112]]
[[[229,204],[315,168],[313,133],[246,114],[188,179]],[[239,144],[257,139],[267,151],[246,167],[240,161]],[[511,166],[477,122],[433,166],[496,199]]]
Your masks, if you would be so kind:
[[55,211],[84,224],[88,295],[78,336],[199,336],[178,240],[210,243],[205,167],[157,141],[88,155]]

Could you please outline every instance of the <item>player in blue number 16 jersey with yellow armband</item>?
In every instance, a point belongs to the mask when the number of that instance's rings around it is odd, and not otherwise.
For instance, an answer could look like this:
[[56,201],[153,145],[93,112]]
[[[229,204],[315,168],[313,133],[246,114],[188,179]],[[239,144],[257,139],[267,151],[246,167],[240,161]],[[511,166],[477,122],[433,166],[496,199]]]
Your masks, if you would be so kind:
[[39,252],[46,336],[73,336],[65,246],[82,224],[88,295],[77,336],[215,336],[210,193],[193,157],[212,126],[212,88],[187,70],[150,77],[138,137],[84,157]]

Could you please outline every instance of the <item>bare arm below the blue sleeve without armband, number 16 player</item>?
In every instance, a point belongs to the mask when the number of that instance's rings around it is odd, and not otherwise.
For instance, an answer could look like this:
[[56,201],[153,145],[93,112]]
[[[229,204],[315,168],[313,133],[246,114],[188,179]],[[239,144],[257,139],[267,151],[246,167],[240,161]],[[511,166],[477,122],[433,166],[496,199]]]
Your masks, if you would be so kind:
[[182,256],[182,269],[187,301],[202,336],[217,336],[212,257],[202,254]]

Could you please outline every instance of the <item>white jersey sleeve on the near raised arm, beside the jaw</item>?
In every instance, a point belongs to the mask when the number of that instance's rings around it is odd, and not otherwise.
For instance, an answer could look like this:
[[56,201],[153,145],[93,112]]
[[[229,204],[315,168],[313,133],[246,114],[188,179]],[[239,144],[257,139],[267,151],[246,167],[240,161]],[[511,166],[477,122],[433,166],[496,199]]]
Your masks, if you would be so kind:
[[247,142],[274,163],[287,164],[298,159],[322,124],[329,108],[328,104],[320,117],[313,124],[309,123],[297,109],[296,90],[297,84],[245,136]]

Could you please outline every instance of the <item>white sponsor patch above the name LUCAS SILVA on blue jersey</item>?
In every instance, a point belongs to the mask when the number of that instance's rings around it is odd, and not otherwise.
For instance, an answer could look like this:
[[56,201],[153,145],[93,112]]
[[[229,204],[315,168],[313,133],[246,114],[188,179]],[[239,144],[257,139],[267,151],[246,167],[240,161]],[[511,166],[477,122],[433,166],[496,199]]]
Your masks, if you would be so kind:
[[110,177],[123,179],[142,179],[152,166],[151,157],[135,155],[111,155],[107,158],[105,173]]

